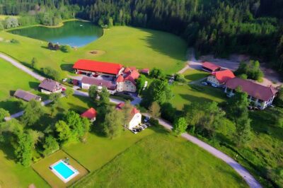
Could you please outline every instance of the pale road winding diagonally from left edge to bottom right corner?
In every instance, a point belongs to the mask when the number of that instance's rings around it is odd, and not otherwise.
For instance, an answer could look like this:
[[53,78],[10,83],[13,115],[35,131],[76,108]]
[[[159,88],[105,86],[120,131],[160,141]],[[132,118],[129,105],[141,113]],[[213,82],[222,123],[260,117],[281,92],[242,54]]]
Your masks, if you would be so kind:
[[[45,77],[40,76],[39,74],[36,74],[35,72],[28,69],[26,66],[23,66],[23,64],[19,63],[15,59],[12,59],[11,57],[8,57],[5,54],[0,53],[0,58],[10,62],[14,66],[18,67],[18,69],[25,71],[27,74],[30,74],[30,76],[33,76],[37,80],[42,81],[42,80],[45,79]],[[88,93],[81,92],[81,91],[78,91],[78,90],[75,90],[74,94],[88,97]],[[111,102],[119,103],[121,101],[116,100],[116,99],[112,99]],[[42,105],[46,105],[46,104],[42,104]],[[17,113],[18,116],[21,116],[22,114],[23,114],[23,112]],[[144,115],[149,117],[149,114],[144,114]],[[158,121],[159,121],[159,124],[161,124],[166,129],[171,130],[173,128],[170,123],[166,122],[163,119],[158,119]],[[229,157],[225,153],[222,153],[221,151],[217,150],[216,148],[209,146],[209,144],[204,143],[204,141],[197,139],[195,136],[191,136],[190,134],[187,134],[187,133],[182,134],[182,136],[183,136],[183,138],[187,139],[188,141],[191,141],[192,143],[195,143],[197,146],[200,146],[205,151],[208,151],[209,153],[214,155],[216,158],[219,158],[219,159],[223,160],[225,163],[227,163],[228,165],[230,165],[234,170],[236,170],[236,172],[238,172],[239,175],[241,175],[241,177],[243,177],[243,180],[245,180],[250,187],[252,187],[252,188],[261,188],[262,187],[260,185],[260,183],[257,180],[255,180],[253,175],[250,175],[248,170],[243,168],[239,163],[237,163],[235,160],[233,160],[233,158]]]

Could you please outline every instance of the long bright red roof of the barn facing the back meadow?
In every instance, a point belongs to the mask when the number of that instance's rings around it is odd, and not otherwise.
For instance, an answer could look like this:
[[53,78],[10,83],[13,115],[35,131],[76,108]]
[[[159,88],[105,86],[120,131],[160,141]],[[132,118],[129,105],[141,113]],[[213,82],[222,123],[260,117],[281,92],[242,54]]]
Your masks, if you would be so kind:
[[73,66],[73,69],[81,69],[85,71],[101,72],[105,74],[118,74],[122,69],[122,64],[113,64],[108,62],[92,61],[79,59]]

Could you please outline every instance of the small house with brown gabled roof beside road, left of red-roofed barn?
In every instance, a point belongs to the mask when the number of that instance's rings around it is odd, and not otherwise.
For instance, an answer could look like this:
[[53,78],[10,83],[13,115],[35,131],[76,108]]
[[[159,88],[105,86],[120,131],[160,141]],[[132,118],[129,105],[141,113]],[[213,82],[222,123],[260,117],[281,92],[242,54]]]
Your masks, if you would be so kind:
[[57,81],[53,81],[52,79],[46,78],[40,83],[40,86],[38,86],[38,89],[42,93],[50,94],[50,93],[61,93],[63,90],[63,87]]

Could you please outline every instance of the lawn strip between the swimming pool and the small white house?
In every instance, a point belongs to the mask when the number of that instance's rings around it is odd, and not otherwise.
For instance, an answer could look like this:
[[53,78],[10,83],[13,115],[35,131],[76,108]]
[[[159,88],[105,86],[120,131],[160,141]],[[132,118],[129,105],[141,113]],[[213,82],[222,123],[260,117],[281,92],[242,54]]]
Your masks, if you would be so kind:
[[64,146],[64,151],[76,158],[88,170],[94,171],[103,167],[137,141],[153,133],[154,131],[151,129],[146,129],[139,134],[132,134],[132,132],[126,130],[122,133],[122,136],[113,140],[105,136],[89,134],[87,143],[74,143]]

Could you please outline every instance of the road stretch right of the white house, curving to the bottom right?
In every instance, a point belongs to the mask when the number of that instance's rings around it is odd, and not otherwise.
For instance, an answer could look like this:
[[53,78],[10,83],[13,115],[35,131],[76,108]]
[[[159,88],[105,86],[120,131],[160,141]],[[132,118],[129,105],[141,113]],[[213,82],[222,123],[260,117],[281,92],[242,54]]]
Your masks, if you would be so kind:
[[[146,117],[150,117],[149,114],[143,114]],[[165,127],[168,130],[172,130],[172,124],[165,121],[164,119],[158,119],[159,124],[161,124],[163,127]],[[253,175],[250,175],[248,170],[243,168],[239,163],[236,162],[236,160],[233,160],[233,158],[229,157],[225,153],[222,153],[221,151],[217,150],[216,148],[210,146],[209,144],[205,143],[204,141],[201,141],[200,139],[197,139],[195,136],[192,136],[190,134],[184,133],[181,135],[184,139],[187,139],[188,141],[191,141],[192,143],[195,143],[197,146],[200,146],[200,148],[203,148],[205,151],[211,153],[216,158],[219,158],[223,160],[225,163],[231,166],[236,172],[238,172],[241,177],[243,177],[243,180],[247,182],[247,184],[252,188],[260,188],[262,187],[260,183],[255,180]]]

